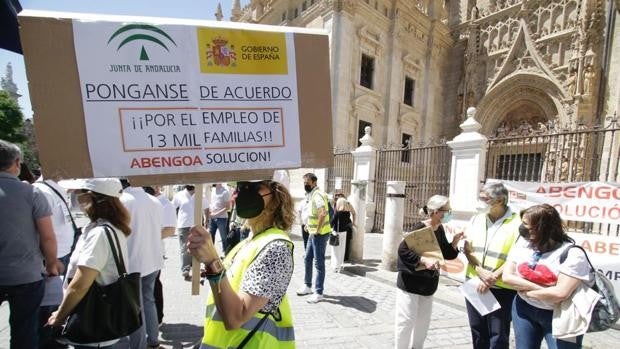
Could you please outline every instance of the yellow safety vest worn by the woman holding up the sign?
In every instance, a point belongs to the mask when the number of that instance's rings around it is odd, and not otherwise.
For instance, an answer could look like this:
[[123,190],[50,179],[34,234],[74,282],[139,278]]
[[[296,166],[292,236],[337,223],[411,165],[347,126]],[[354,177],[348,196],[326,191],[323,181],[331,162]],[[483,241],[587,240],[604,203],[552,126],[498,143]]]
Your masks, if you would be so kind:
[[[224,259],[226,276],[230,286],[235,292],[241,288],[241,282],[246,270],[256,256],[275,240],[283,240],[291,244],[289,236],[280,229],[270,228],[256,235],[251,240],[246,239],[237,244]],[[250,320],[235,330],[226,330],[221,314],[215,306],[213,292],[207,299],[207,311],[205,314],[204,335],[201,349],[229,349],[237,348],[244,338],[267,316],[260,328],[246,343],[247,349],[270,349],[270,348],[295,348],[295,331],[293,329],[293,317],[288,297],[284,295],[278,309],[269,315],[258,312]]]

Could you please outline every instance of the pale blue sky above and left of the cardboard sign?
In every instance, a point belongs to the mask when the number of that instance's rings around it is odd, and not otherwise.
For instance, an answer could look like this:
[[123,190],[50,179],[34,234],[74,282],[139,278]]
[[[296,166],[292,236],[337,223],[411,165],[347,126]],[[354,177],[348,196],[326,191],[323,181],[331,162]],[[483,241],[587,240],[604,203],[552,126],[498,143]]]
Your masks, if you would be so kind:
[[[105,13],[135,16],[159,16],[193,19],[215,19],[217,4],[222,4],[224,19],[230,18],[232,0],[21,0],[24,9]],[[249,0],[241,0],[241,6]],[[22,95],[19,105],[24,116],[32,117],[28,83],[22,55],[0,49],[0,76],[4,77],[7,63],[13,66],[13,80]]]

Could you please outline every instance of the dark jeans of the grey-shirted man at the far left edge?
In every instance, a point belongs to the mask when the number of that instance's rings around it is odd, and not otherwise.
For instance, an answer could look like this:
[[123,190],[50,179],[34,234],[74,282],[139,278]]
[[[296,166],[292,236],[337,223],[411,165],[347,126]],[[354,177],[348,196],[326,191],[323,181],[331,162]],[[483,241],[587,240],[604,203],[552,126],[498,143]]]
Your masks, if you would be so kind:
[[36,348],[39,342],[39,306],[45,280],[14,286],[0,286],[0,304],[9,302],[11,349]]

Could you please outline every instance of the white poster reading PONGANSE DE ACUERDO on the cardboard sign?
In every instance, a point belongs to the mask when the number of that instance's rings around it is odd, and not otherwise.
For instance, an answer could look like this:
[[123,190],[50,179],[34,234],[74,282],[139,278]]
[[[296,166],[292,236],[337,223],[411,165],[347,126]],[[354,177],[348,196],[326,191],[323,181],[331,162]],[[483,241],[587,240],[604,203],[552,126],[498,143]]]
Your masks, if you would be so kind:
[[292,33],[74,21],[94,176],[301,166]]

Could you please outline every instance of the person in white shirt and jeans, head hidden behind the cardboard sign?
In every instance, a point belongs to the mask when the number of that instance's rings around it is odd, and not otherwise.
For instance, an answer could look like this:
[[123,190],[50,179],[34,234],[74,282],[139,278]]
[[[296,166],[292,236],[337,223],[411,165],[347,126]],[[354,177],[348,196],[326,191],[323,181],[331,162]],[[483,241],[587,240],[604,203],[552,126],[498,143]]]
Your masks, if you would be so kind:
[[163,207],[157,198],[141,187],[130,187],[121,180],[121,202],[129,211],[131,234],[127,238],[129,273],[140,273],[143,325],[129,336],[130,348],[159,347],[155,278],[163,266],[161,234]]

